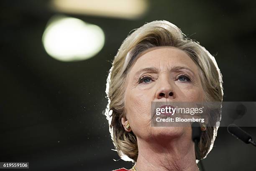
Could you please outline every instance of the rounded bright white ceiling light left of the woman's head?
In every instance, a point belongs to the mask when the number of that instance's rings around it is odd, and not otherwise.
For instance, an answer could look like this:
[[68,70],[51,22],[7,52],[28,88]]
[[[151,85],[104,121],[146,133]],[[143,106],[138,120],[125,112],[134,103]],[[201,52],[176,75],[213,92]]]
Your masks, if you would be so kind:
[[44,31],[46,52],[59,61],[81,61],[95,56],[105,36],[99,26],[71,17],[54,17]]

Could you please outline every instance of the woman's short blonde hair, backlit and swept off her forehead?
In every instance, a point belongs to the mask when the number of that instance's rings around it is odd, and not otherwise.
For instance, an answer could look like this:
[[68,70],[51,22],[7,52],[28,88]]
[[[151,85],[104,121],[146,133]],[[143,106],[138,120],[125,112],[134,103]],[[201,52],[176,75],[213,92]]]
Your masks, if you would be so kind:
[[[198,42],[187,38],[177,26],[165,20],[152,21],[133,30],[118,49],[106,84],[108,105],[105,115],[109,121],[111,138],[116,151],[126,161],[129,158],[132,159],[130,161],[137,160],[138,146],[136,135],[126,132],[121,123],[121,118],[126,115],[125,79],[137,57],[143,51],[156,46],[173,46],[186,52],[200,70],[205,101],[223,101],[223,82],[218,65],[215,58]],[[220,120],[220,116],[216,119]],[[209,126],[202,132],[198,144],[200,156],[197,156],[197,159],[205,158],[211,151],[217,131],[218,126]],[[125,158],[126,156],[128,158]]]

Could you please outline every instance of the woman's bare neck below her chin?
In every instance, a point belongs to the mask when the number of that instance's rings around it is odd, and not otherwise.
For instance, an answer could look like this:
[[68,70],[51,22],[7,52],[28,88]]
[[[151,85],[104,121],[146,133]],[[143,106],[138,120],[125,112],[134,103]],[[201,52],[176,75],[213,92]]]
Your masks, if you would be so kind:
[[[168,140],[145,141],[137,137],[138,171],[199,171],[194,143],[182,137]],[[166,143],[168,142],[168,143]]]

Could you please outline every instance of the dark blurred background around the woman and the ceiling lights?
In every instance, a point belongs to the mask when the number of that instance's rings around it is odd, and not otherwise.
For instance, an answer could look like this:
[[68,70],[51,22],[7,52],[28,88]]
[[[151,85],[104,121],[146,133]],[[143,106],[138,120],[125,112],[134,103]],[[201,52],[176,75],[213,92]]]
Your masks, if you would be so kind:
[[[106,36],[99,54],[77,62],[46,54],[42,34],[57,14],[47,4],[0,3],[0,162],[27,161],[31,171],[131,168],[131,162],[118,160],[111,150],[102,115],[105,84],[110,61],[129,31],[153,20],[174,23],[215,56],[223,74],[224,101],[256,101],[256,1],[150,0],[147,13],[134,20],[67,14],[100,26]],[[244,129],[256,139],[255,127]],[[255,154],[255,147],[221,127],[203,160],[205,170],[255,171]]]

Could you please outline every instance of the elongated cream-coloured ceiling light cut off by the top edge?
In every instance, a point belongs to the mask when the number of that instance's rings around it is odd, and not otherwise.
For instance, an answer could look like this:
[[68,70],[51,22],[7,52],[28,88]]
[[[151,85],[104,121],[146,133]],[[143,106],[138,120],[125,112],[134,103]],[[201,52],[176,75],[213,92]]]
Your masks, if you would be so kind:
[[51,7],[64,13],[134,19],[148,9],[148,0],[52,0]]

